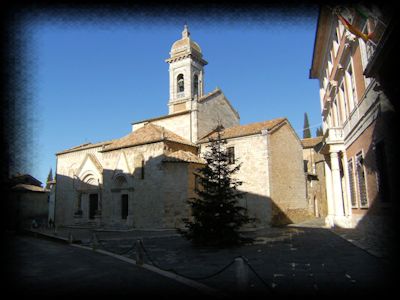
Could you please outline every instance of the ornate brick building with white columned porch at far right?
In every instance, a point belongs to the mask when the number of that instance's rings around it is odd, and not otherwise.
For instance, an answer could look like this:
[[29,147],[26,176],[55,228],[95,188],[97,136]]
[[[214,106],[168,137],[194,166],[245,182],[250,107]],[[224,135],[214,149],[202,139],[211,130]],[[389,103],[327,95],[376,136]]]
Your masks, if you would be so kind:
[[368,75],[389,22],[376,6],[320,9],[310,78],[320,83],[330,226],[375,224],[393,205],[394,105]]

